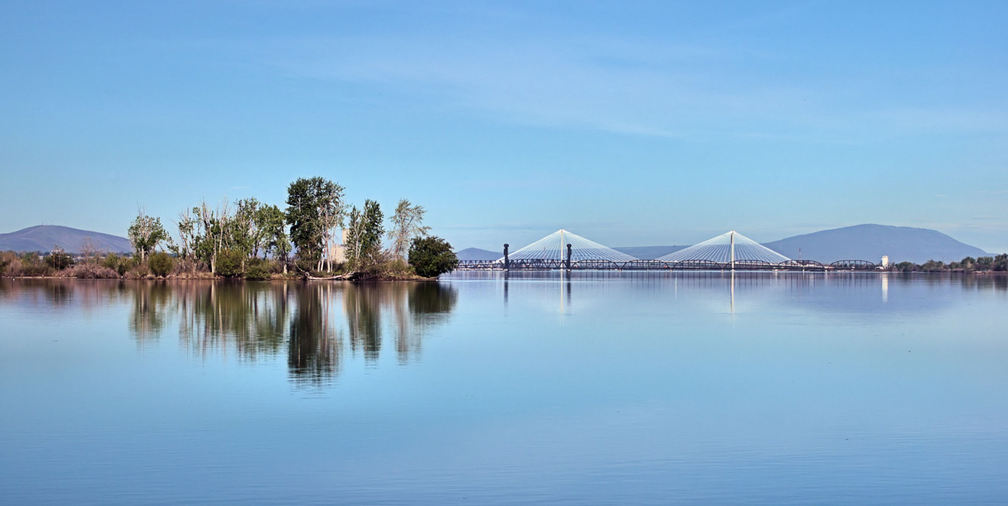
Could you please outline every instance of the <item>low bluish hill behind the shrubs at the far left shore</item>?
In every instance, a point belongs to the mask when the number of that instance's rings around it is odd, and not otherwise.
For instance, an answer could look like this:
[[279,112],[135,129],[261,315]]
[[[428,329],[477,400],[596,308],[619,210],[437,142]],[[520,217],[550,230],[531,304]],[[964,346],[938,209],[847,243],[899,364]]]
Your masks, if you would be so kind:
[[56,225],[38,225],[0,234],[0,251],[50,251],[55,246],[72,254],[81,253],[86,247],[106,253],[133,251],[129,239],[124,237]]

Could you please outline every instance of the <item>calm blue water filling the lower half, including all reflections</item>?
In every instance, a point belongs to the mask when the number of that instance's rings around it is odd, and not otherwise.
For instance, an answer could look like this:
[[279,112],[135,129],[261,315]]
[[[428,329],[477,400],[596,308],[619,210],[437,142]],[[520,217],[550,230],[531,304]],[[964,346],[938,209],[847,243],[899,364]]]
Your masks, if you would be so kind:
[[1008,282],[0,280],[0,502],[1005,503]]

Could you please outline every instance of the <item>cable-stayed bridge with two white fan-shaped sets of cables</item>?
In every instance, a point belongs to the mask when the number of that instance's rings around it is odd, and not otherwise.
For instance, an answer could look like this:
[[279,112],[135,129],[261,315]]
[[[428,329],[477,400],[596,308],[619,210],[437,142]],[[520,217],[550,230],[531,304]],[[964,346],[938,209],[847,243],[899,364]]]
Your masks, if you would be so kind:
[[792,260],[730,231],[653,260],[635,258],[565,230],[558,230],[496,260],[463,260],[458,270],[877,270],[868,260],[823,264]]

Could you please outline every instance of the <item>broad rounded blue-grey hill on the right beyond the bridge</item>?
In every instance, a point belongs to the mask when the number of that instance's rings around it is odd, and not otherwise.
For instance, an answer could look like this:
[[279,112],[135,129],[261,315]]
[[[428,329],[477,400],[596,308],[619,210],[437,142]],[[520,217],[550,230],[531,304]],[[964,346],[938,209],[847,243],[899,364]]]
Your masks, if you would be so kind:
[[846,259],[871,260],[877,263],[882,255],[889,255],[890,262],[914,263],[927,260],[949,262],[968,256],[987,255],[984,250],[959,242],[936,230],[888,225],[855,225],[823,230],[763,245],[792,259],[817,260],[824,263]]

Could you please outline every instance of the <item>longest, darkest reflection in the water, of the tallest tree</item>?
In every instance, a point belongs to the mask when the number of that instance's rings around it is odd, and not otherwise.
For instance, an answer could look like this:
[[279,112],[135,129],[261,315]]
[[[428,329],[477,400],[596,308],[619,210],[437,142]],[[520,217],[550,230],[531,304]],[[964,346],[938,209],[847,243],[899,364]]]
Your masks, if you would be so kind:
[[296,290],[297,308],[287,344],[287,368],[295,383],[320,384],[339,372],[343,341],[330,321],[332,291],[332,285],[313,283]]

